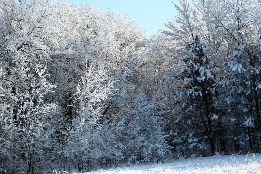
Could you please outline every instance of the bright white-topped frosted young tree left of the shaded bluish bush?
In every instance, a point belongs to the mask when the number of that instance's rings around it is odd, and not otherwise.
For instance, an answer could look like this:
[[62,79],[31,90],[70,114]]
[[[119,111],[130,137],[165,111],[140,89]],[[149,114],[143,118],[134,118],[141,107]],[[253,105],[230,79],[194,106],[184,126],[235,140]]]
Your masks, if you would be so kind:
[[113,83],[103,67],[90,67],[76,88],[73,107],[77,115],[68,127],[64,155],[73,160],[79,172],[92,170],[101,156],[102,105],[113,94]]

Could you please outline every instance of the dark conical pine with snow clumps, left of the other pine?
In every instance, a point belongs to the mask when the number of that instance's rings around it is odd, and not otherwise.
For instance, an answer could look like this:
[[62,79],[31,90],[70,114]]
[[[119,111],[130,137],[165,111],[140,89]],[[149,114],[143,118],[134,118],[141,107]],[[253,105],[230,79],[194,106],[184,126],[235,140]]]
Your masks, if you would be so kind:
[[207,45],[195,36],[188,46],[188,56],[182,61],[185,67],[180,69],[177,75],[180,83],[185,85],[176,92],[181,107],[180,116],[174,122],[172,135],[176,135],[174,142],[182,148],[205,149],[210,145],[210,152],[216,152],[216,124],[222,115],[218,111],[216,83],[217,71],[213,68],[214,62],[207,52]]

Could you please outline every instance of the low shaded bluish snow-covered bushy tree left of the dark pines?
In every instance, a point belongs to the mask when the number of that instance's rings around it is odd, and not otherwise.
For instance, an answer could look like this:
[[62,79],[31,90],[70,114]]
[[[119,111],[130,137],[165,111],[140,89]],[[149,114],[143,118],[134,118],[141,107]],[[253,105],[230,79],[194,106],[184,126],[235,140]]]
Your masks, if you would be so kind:
[[126,121],[125,135],[128,160],[133,163],[162,161],[169,153],[161,127],[162,103],[157,101],[157,96],[146,98],[142,91],[132,98],[131,118]]

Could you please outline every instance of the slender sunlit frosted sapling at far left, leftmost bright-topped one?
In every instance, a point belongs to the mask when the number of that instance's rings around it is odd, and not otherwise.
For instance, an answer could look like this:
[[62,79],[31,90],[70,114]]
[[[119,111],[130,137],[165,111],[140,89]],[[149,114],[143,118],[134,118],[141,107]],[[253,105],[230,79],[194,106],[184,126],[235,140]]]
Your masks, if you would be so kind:
[[[52,124],[55,122],[56,104],[45,100],[48,93],[54,92],[52,88],[55,86],[46,81],[48,74],[44,74],[45,70],[46,66],[36,65],[35,74],[28,75],[32,79],[28,92],[14,96],[22,99],[15,116],[19,133],[16,141],[21,147],[20,155],[26,162],[27,172],[31,170],[31,173],[34,173],[35,165],[46,160],[45,153],[51,150],[49,137],[55,131]],[[43,166],[38,166],[38,169],[40,167]]]

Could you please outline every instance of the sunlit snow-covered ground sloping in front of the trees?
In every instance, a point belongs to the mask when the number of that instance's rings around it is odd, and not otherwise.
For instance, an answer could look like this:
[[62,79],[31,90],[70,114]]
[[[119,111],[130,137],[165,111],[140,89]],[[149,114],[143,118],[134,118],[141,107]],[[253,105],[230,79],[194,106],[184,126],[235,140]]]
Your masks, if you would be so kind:
[[117,167],[85,174],[261,173],[261,154],[219,155],[169,161],[163,164]]

